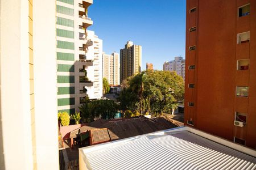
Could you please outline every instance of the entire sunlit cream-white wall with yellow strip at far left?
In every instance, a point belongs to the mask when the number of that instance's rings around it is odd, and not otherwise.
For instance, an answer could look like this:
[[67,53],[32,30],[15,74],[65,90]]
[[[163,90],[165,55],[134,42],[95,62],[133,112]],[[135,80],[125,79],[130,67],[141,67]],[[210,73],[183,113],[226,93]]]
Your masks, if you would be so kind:
[[0,3],[0,167],[59,169],[55,2]]

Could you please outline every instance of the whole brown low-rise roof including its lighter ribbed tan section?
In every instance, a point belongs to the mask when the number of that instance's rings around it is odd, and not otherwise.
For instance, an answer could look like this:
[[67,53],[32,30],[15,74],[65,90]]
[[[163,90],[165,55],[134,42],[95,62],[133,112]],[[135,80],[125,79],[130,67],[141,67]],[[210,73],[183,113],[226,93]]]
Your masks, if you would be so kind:
[[100,119],[71,131],[69,138],[71,138],[71,145],[73,145],[73,138],[76,138],[79,134],[88,133],[87,137],[90,138],[89,145],[95,145],[154,131],[176,128],[177,126],[179,125],[166,117],[146,118],[139,116],[117,120]]

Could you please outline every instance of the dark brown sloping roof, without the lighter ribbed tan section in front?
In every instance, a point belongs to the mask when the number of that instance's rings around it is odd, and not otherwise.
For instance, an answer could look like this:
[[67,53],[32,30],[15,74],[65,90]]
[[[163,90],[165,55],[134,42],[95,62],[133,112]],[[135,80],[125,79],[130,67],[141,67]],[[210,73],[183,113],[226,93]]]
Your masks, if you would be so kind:
[[82,133],[92,129],[108,128],[110,138],[113,141],[115,139],[129,138],[176,127],[177,125],[173,124],[172,121],[166,117],[150,119],[144,116],[139,116],[134,118],[122,118],[118,120],[100,119],[91,122],[86,126],[82,126],[79,129],[73,130],[70,134],[70,138],[76,138],[79,131]]

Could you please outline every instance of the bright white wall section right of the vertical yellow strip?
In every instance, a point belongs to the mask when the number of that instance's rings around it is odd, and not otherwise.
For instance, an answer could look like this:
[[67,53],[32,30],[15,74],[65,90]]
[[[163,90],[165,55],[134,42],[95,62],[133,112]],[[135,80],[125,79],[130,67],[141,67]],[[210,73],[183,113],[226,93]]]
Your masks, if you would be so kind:
[[59,169],[55,1],[34,0],[34,80],[38,169]]

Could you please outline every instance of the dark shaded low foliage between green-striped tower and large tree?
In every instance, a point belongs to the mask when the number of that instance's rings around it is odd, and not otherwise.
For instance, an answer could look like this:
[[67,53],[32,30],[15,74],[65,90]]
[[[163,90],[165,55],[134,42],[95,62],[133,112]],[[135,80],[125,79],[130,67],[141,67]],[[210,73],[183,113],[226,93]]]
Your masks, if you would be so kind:
[[98,118],[114,118],[119,105],[113,100],[87,100],[81,105],[80,112],[84,122],[92,122]]

